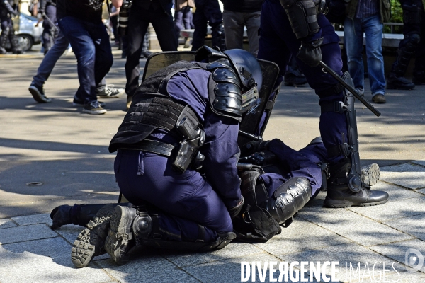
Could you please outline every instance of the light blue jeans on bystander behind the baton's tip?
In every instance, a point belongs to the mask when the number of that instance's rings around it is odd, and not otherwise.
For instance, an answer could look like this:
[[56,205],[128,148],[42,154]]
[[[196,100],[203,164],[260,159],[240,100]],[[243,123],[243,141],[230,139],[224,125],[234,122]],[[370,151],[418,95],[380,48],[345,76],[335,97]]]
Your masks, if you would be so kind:
[[348,57],[348,71],[354,87],[364,90],[363,33],[366,36],[366,57],[372,96],[385,94],[384,57],[382,56],[382,30],[380,16],[346,18],[344,22],[344,47]]

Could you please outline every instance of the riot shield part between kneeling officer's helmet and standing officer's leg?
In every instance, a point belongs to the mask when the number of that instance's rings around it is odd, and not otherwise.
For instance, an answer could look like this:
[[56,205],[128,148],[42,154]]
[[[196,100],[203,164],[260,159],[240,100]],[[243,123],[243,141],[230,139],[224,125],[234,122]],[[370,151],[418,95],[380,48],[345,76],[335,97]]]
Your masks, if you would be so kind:
[[271,110],[273,110],[273,105],[278,96],[278,92],[271,96],[279,74],[278,65],[262,59],[257,60],[260,63],[261,71],[263,71],[263,83],[259,90],[259,98],[253,102],[254,105],[251,105],[251,109],[242,116],[237,141],[239,147],[249,141],[262,139]]

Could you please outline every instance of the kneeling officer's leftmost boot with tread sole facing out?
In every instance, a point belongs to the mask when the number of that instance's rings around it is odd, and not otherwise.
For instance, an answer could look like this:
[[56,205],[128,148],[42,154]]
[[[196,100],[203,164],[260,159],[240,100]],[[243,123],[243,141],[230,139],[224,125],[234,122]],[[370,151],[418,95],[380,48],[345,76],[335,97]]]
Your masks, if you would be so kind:
[[79,233],[71,249],[71,260],[76,267],[86,267],[94,256],[106,253],[105,239],[115,206],[106,204]]

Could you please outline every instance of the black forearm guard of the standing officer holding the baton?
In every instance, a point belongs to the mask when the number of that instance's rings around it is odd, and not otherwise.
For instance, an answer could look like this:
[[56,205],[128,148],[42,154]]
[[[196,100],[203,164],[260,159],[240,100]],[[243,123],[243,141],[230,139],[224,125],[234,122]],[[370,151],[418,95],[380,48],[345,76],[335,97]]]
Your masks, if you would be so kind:
[[317,8],[313,0],[280,0],[280,4],[298,40],[319,31]]

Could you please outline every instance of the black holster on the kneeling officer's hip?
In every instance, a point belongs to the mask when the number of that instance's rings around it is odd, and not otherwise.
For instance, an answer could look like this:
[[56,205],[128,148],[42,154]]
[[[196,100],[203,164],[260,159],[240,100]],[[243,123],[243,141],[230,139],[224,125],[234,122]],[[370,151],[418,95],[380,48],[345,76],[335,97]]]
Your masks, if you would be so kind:
[[205,156],[199,152],[205,142],[205,132],[202,129],[195,112],[186,105],[176,121],[176,130],[183,136],[177,146],[176,153],[172,154],[173,166],[183,173],[191,166],[194,169],[202,167]]

